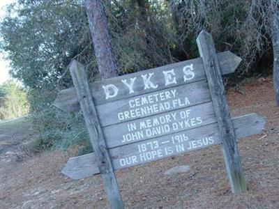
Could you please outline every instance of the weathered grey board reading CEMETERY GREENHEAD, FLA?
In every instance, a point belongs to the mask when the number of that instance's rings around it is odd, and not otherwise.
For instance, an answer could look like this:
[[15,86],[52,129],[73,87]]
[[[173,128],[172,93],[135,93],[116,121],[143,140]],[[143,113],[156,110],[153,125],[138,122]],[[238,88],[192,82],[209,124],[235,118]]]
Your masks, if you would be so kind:
[[100,125],[107,126],[210,101],[209,87],[203,80],[100,104],[96,109]]

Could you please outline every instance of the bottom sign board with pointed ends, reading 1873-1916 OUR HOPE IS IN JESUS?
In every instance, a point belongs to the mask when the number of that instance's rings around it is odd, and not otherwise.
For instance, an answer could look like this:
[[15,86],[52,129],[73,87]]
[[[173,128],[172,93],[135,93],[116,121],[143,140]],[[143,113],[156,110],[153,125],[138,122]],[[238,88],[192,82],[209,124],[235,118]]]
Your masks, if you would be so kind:
[[[265,121],[257,114],[248,114],[233,119],[236,139],[259,134]],[[144,143],[133,143],[109,150],[112,165],[115,170],[142,164],[165,157],[188,153],[192,150],[207,148],[220,144],[217,123],[197,129],[186,130],[179,134],[170,134],[156,139],[149,139]],[[145,151],[143,151],[145,150]],[[142,154],[143,153],[143,154]],[[135,157],[134,157],[135,156]],[[71,157],[62,173],[75,180],[100,173],[94,153]]]

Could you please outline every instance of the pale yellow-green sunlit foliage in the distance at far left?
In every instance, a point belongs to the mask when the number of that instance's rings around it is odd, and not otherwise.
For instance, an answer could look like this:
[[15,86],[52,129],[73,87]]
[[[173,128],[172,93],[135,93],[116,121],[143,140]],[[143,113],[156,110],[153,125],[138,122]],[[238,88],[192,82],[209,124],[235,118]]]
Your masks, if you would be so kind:
[[13,81],[0,85],[0,119],[24,116],[29,111],[27,93]]

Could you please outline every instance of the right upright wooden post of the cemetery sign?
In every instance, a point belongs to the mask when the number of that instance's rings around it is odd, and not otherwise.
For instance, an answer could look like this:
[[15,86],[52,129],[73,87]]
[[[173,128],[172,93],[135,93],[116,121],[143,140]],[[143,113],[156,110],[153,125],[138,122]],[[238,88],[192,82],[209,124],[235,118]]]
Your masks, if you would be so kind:
[[225,87],[219,68],[216,49],[211,34],[206,31],[197,37],[199,54],[204,62],[204,69],[209,83],[213,108],[218,121],[218,128],[223,140],[223,154],[233,193],[246,192],[246,180],[241,167],[239,150],[236,144],[234,126],[229,114],[229,106],[225,95]]

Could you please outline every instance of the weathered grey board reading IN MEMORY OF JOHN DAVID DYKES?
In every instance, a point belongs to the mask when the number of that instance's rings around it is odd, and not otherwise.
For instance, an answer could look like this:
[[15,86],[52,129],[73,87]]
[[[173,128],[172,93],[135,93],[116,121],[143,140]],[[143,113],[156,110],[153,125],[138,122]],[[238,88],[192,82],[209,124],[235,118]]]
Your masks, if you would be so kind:
[[212,102],[207,102],[193,107],[103,127],[103,133],[107,147],[113,148],[215,122],[216,117]]

